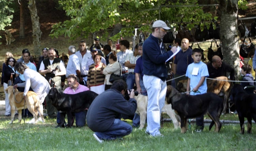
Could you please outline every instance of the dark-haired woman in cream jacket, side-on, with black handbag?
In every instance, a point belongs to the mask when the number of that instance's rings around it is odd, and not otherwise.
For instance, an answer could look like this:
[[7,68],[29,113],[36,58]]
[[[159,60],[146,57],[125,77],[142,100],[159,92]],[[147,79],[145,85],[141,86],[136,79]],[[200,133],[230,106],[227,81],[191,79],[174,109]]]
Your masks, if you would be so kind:
[[111,88],[112,83],[109,82],[109,78],[111,77],[111,74],[120,75],[122,66],[120,63],[117,62],[117,56],[116,54],[110,54],[109,55],[109,64],[108,66],[103,70],[103,74],[105,74],[105,91]]

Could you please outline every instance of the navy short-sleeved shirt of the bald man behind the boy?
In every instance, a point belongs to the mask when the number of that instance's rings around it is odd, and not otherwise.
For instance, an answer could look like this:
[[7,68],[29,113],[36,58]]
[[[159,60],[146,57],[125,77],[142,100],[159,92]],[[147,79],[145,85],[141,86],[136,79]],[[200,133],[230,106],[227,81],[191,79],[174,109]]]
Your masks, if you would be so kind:
[[177,74],[186,74],[189,64],[194,63],[192,56],[192,49],[188,48],[185,52],[180,50],[175,57],[174,63],[177,65]]

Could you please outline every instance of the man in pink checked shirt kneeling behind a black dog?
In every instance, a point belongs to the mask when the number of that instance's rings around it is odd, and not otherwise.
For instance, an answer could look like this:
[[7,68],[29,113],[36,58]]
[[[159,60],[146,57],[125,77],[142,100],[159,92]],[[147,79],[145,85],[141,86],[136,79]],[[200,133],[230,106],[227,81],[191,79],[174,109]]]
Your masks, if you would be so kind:
[[[77,93],[80,93],[83,91],[89,91],[89,88],[87,88],[84,85],[80,85],[77,82],[77,77],[75,74],[70,74],[67,77],[67,83],[68,83],[69,87],[64,90],[63,93],[65,93],[65,94],[77,94]],[[87,110],[75,113],[77,127],[82,127],[85,125],[86,114],[87,114]],[[60,123],[60,113],[59,112],[57,114],[57,123]],[[73,123],[74,123],[74,117],[73,117],[72,125],[73,125]]]

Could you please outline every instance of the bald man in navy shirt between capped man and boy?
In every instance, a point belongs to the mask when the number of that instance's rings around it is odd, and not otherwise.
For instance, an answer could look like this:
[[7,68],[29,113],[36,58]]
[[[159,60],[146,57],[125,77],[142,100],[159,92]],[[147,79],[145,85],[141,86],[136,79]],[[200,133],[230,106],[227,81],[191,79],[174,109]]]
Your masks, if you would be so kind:
[[[194,63],[192,56],[192,49],[189,48],[189,40],[184,38],[181,40],[181,49],[175,57],[174,64],[173,64],[173,74],[174,77],[180,77],[186,74],[186,69],[188,68],[189,64]],[[188,77],[180,77],[175,79],[175,87],[177,88],[177,84],[180,80],[188,79]]]

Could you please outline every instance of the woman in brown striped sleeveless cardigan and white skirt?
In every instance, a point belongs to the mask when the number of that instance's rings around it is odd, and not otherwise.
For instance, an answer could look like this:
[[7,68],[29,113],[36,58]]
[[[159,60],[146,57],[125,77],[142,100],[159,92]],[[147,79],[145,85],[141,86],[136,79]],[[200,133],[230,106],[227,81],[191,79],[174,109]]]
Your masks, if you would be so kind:
[[104,63],[101,63],[102,56],[95,54],[93,56],[94,64],[90,65],[87,74],[87,87],[90,91],[97,94],[101,94],[105,91],[105,75],[103,74],[103,69],[106,67]]

